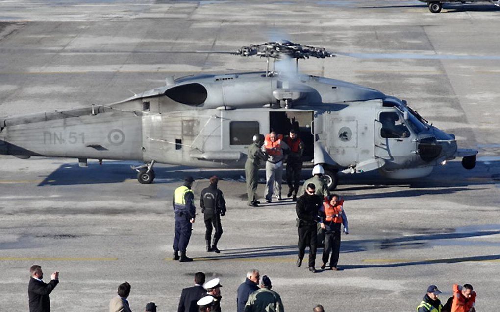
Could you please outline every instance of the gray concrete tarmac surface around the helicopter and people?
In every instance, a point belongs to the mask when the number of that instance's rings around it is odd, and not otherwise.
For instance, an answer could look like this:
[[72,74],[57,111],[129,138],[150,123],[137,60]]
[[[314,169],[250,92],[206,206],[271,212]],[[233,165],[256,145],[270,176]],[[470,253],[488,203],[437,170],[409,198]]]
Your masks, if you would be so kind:
[[[341,271],[312,274],[295,267],[293,203],[247,207],[242,170],[158,165],[155,183],[139,185],[128,162],[78,168],[75,159],[0,156],[0,311],[27,311],[32,264],[42,266],[45,280],[60,272],[50,295],[54,312],[106,311],[124,281],[132,311],[149,301],[175,311],[197,271],[221,279],[222,311],[235,311],[236,288],[252,268],[270,277],[286,311],[316,304],[414,311],[428,285],[438,286],[444,302],[453,283],[474,286],[478,312],[497,311],[497,7],[445,4],[432,14],[418,1],[385,0],[54,3],[0,1],[1,116],[115,102],[169,75],[263,70],[261,59],[171,51],[235,50],[285,37],[357,53],[299,66],[408,100],[456,134],[460,147],[478,149],[478,162],[466,171],[452,161],[411,181],[342,176],[337,191],[350,234],[342,237]],[[195,261],[176,263],[172,192],[192,175],[197,201],[215,173],[228,203],[221,253],[204,251],[198,218],[188,246]]]

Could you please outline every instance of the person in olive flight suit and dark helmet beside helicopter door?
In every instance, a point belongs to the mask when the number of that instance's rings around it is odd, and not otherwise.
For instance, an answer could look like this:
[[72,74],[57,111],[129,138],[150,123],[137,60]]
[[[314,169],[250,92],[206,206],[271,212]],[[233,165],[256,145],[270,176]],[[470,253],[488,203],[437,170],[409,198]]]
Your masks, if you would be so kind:
[[245,162],[246,195],[248,196],[248,206],[258,207],[260,204],[255,197],[258,184],[258,167],[261,161],[267,160],[267,155],[260,150],[264,144],[264,136],[255,134],[253,143],[248,145]]

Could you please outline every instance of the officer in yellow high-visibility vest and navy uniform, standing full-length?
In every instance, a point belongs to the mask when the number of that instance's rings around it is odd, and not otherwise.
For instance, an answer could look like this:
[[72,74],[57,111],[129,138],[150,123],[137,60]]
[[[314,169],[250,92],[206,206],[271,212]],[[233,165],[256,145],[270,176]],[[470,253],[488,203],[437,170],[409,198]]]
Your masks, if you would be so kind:
[[[194,194],[191,191],[194,179],[190,176],[184,179],[184,184],[173,192],[173,212],[175,214],[175,236],[173,238],[173,260],[180,262],[192,261],[186,256],[186,248],[191,237],[192,224],[196,208]],[[180,251],[180,257],[179,257]]]

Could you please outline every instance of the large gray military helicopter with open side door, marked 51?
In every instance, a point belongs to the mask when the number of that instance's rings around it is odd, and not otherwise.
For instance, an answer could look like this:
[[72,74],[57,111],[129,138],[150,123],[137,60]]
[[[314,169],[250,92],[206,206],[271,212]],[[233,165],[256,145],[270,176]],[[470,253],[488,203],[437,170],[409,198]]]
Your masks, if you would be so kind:
[[[211,52],[213,53],[213,52]],[[298,73],[298,60],[334,53],[290,41],[242,47],[267,60],[266,71],[166,78],[165,85],[109,105],[0,118],[0,154],[134,160],[137,180],[154,180],[153,165],[242,168],[256,133],[299,130],[305,164],[321,164],[334,189],[337,173],[378,170],[393,179],[430,174],[476,150],[429,124],[406,101],[357,84]],[[276,60],[295,59],[295,70]],[[269,59],[274,60],[270,69]]]

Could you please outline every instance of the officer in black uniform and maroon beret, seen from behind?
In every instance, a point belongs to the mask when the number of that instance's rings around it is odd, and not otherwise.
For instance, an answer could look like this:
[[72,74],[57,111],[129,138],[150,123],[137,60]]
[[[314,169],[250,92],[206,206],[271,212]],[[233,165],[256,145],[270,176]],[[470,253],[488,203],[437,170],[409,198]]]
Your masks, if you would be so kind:
[[[217,242],[222,235],[220,217],[225,215],[225,200],[222,191],[217,188],[217,183],[217,176],[210,177],[210,186],[201,191],[199,207],[201,207],[201,212],[203,213],[203,219],[205,221],[206,251],[213,251],[218,254],[220,251],[217,249]],[[215,229],[215,234],[213,235],[213,242],[210,246],[212,225]]]

